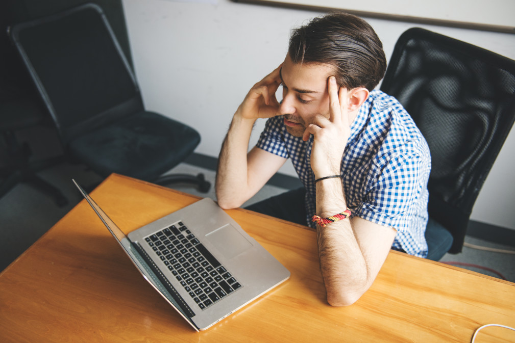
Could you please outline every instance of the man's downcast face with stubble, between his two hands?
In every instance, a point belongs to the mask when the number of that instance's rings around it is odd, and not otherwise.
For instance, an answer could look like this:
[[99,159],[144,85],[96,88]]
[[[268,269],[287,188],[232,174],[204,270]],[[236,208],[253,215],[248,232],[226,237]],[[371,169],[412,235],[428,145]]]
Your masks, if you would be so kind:
[[286,130],[302,137],[307,125],[317,115],[329,118],[328,78],[334,67],[328,64],[294,64],[286,56],[280,71],[283,101],[279,112],[284,115]]

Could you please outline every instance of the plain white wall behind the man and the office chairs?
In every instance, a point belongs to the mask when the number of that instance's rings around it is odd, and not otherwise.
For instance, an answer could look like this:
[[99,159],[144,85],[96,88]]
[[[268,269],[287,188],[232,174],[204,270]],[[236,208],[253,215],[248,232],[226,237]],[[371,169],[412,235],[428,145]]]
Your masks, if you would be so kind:
[[[283,61],[290,29],[320,14],[230,0],[123,3],[147,109],[195,127],[202,137],[196,152],[214,157],[248,89]],[[387,57],[402,32],[420,26],[515,59],[515,34],[367,21],[383,42]],[[256,124],[251,146],[263,124]],[[515,229],[514,152],[512,130],[479,194],[472,219]],[[295,175],[289,163],[281,172]]]

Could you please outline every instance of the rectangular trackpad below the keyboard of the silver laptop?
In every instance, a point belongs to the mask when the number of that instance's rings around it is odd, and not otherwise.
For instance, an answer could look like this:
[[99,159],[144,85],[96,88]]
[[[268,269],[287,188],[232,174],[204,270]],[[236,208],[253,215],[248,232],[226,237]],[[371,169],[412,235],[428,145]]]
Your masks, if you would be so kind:
[[205,237],[229,259],[252,247],[252,244],[231,224],[224,225],[206,234]]

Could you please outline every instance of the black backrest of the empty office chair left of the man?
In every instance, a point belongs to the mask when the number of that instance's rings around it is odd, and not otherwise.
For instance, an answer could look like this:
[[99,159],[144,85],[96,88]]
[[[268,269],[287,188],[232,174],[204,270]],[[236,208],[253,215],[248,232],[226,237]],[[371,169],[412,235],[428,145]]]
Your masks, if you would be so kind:
[[15,25],[11,37],[64,143],[143,109],[130,66],[97,5]]

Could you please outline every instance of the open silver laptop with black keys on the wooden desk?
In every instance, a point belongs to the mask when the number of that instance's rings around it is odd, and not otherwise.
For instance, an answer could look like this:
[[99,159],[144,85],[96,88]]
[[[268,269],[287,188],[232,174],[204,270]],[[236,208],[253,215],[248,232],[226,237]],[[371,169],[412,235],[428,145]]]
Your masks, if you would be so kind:
[[211,327],[290,276],[209,198],[126,236],[73,182],[143,277],[197,331]]

